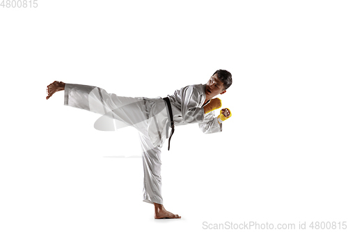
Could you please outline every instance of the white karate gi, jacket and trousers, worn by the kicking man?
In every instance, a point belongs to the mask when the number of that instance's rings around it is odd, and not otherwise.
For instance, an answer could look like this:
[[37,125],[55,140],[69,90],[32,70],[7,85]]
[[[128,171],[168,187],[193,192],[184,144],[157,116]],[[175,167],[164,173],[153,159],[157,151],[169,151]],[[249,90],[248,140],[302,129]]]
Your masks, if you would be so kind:
[[[204,114],[205,85],[186,86],[168,95],[175,125],[198,123],[204,133],[222,131],[214,111]],[[207,102],[209,103],[209,102]],[[143,149],[143,201],[163,204],[161,196],[161,146],[168,138],[170,119],[162,98],[127,98],[102,88],[65,84],[64,105],[86,109],[116,120],[116,126],[131,125],[139,131]]]

